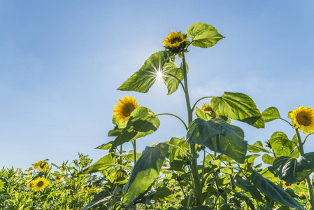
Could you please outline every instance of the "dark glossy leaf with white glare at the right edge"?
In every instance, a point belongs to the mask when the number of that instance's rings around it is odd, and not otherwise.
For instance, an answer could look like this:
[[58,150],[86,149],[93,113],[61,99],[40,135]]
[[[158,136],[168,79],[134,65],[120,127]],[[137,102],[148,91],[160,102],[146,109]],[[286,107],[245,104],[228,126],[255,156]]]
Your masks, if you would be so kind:
[[314,172],[314,153],[306,153],[299,158],[281,156],[273,161],[273,169],[287,183],[303,181]]

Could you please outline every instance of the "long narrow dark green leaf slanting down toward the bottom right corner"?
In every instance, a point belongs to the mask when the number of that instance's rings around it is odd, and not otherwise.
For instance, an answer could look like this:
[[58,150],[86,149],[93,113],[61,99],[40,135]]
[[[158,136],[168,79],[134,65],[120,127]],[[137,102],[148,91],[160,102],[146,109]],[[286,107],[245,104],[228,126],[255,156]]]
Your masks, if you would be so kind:
[[258,172],[252,172],[251,181],[267,197],[272,200],[276,200],[280,204],[283,204],[287,207],[304,209],[297,200],[294,200],[288,193],[286,193],[283,189],[277,186],[272,181],[265,179]]

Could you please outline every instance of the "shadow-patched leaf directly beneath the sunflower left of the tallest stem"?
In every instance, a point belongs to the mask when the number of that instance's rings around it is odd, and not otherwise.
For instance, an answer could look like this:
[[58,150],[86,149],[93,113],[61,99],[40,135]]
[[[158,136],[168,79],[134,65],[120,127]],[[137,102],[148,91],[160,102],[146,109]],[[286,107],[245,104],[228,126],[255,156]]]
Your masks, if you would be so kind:
[[155,113],[144,106],[138,107],[131,113],[127,127],[124,127],[121,134],[115,138],[113,148],[125,142],[152,134],[157,130],[159,125],[160,121],[157,116],[155,116]]

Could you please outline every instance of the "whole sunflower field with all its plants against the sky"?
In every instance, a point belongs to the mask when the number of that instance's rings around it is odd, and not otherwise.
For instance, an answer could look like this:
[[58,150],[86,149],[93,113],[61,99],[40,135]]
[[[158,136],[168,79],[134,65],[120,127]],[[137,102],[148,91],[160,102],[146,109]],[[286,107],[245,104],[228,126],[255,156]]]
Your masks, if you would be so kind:
[[[259,111],[239,92],[190,102],[187,73],[194,72],[185,55],[190,47],[210,48],[223,38],[202,22],[186,34],[172,31],[162,42],[164,50],[148,57],[117,89],[147,93],[162,78],[168,94],[183,88],[187,122],[172,113],[154,113],[126,95],[113,109],[109,140],[97,147],[107,155],[92,162],[79,153],[78,160],[62,165],[41,160],[24,172],[3,168],[0,208],[313,209],[314,153],[304,153],[304,146],[314,132],[314,109],[301,106],[282,118],[276,107]],[[176,118],[186,133],[138,153],[136,141],[157,132],[163,115]],[[268,141],[250,145],[231,120],[256,128],[283,120],[283,130],[295,134],[275,132]],[[124,151],[129,142],[133,150]]]

